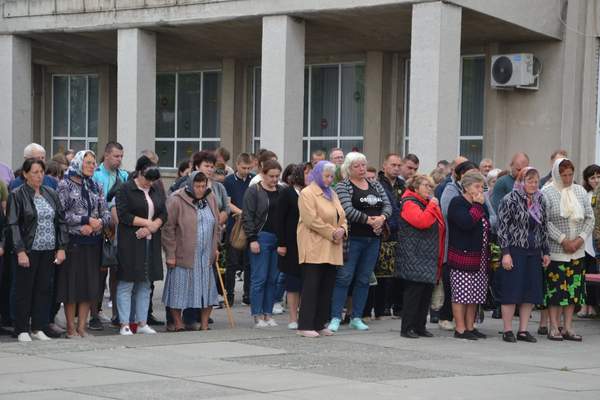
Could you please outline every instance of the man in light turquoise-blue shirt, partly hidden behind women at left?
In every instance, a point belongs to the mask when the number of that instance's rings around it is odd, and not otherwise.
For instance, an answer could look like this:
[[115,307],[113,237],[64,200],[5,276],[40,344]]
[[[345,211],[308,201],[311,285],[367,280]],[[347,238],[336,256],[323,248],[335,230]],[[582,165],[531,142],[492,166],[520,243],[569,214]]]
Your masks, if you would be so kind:
[[[104,156],[102,157],[102,163],[96,168],[94,172],[93,180],[100,184],[104,193],[104,198],[108,201],[108,193],[117,183],[127,182],[129,174],[127,171],[120,169],[123,161],[123,146],[118,142],[108,142],[104,148]],[[114,231],[114,227],[117,222],[117,212],[115,208],[115,200],[111,199],[108,202],[108,208],[111,211],[111,229]],[[112,319],[117,321],[117,274],[116,271],[111,270],[109,279],[109,290],[110,298],[113,302],[112,307]],[[106,283],[106,277],[108,271],[103,271],[100,275],[100,295],[98,296],[98,302],[91,306],[91,318],[89,326],[91,330],[103,330],[103,322],[110,322],[108,317],[102,312],[102,300],[104,298],[104,286]]]

